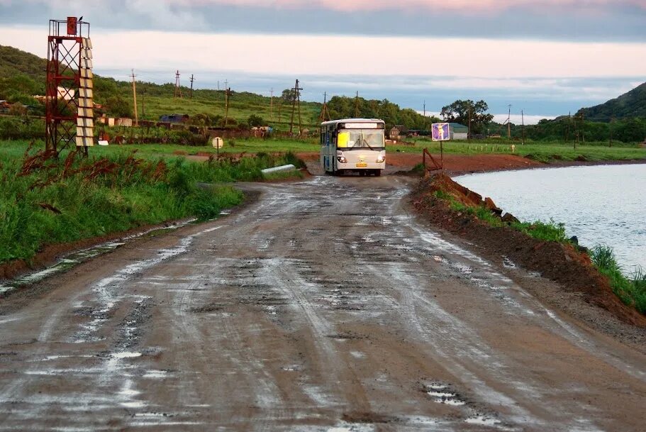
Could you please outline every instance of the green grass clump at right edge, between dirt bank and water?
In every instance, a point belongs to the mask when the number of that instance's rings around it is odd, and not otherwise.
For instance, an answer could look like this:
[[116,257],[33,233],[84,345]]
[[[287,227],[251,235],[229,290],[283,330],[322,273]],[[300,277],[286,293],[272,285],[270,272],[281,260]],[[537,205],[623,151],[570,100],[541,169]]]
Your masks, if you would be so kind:
[[623,274],[612,248],[597,245],[591,250],[592,262],[603,275],[610,279],[613,292],[628,306],[646,314],[646,272],[636,270],[627,277]]

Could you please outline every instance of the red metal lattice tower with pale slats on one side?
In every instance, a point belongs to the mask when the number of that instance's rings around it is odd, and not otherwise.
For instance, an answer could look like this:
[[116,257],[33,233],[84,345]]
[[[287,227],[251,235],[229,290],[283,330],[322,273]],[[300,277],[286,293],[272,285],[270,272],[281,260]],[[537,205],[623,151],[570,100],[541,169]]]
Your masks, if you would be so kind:
[[92,43],[89,23],[50,20],[45,104],[45,148],[94,145]]

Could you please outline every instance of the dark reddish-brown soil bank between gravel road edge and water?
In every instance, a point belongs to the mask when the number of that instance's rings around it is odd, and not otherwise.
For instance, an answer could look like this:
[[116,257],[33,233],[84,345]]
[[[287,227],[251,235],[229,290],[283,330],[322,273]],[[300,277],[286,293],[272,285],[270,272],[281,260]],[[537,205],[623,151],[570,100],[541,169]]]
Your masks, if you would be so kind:
[[433,193],[441,190],[464,204],[484,204],[481,196],[446,176],[423,179],[413,190],[412,204],[425,218],[485,250],[503,255],[527,270],[558,282],[568,292],[582,294],[584,301],[600,306],[624,323],[646,327],[646,317],[625,306],[613,293],[606,276],[591,264],[586,253],[573,245],[537,240],[509,227],[494,227],[475,216],[455,211]]

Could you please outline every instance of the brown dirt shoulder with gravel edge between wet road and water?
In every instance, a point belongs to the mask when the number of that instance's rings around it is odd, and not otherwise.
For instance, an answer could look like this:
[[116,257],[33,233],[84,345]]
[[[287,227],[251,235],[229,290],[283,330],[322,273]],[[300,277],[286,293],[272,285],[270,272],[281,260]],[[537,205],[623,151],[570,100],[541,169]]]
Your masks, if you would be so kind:
[[[411,211],[435,228],[457,237],[457,241],[478,255],[503,264],[509,277],[546,304],[597,331],[641,347],[642,352],[646,350],[646,316],[616,297],[608,278],[596,271],[588,255],[572,245],[537,240],[513,228],[490,226],[470,214],[452,210],[446,201],[433,195],[439,187],[457,185],[469,200],[480,197],[448,177],[442,182],[424,179],[414,187],[410,196]],[[520,275],[513,271],[516,266],[542,278]],[[545,284],[540,279],[556,283]]]

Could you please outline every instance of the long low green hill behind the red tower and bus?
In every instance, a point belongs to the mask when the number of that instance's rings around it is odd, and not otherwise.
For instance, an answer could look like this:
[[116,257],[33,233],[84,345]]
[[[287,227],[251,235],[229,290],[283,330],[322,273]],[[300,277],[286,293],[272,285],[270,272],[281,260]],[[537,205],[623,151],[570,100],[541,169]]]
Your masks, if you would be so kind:
[[[45,94],[46,60],[16,48],[0,47],[0,99],[33,105],[33,94]],[[218,126],[228,114],[229,126],[265,123],[282,131],[289,130],[292,92],[285,89],[274,98],[232,89],[228,113],[225,92],[213,89],[182,87],[183,97],[174,97],[174,84],[137,82],[137,113],[139,120],[158,121],[165,114],[188,114],[203,126]],[[94,101],[104,106],[108,116],[133,117],[132,83],[94,75]],[[322,104],[301,101],[303,128],[318,128]],[[387,126],[402,124],[409,129],[430,128],[437,118],[423,117],[412,109],[401,109],[384,99],[367,100],[334,96],[328,103],[333,118],[358,116],[384,118]],[[358,111],[358,112],[357,112]],[[254,116],[252,118],[252,116]],[[294,116],[297,123],[298,117]]]

